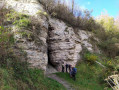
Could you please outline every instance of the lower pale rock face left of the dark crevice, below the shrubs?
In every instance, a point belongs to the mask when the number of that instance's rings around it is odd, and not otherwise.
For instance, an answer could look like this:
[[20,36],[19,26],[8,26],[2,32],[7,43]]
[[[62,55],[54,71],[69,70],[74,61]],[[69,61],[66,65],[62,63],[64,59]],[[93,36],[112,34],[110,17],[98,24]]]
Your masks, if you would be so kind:
[[[41,29],[42,31],[44,29]],[[45,31],[46,30],[46,31]],[[14,37],[16,39],[16,45],[22,48],[27,54],[27,61],[30,63],[30,67],[46,70],[48,64],[47,57],[47,29],[43,31],[44,34],[38,34],[35,36],[34,41],[28,41],[23,38],[19,33],[16,34],[17,28],[13,27]]]

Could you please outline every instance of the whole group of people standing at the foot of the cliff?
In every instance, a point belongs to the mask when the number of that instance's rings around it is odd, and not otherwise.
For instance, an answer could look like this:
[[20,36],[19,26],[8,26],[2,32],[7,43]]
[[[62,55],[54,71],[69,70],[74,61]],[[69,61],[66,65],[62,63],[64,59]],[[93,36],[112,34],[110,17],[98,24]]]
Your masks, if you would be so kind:
[[70,64],[62,64],[62,72],[65,72],[70,74],[70,77],[76,80],[76,73],[77,69],[75,67],[72,67]]

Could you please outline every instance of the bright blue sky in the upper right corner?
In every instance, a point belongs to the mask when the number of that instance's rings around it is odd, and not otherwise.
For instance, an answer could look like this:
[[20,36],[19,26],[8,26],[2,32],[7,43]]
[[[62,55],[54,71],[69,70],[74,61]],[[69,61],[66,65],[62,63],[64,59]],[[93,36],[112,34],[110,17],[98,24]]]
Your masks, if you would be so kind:
[[[66,0],[71,2],[71,0]],[[97,17],[101,12],[108,13],[110,16],[119,16],[119,0],[75,0],[75,4],[80,8],[93,10],[92,16]]]

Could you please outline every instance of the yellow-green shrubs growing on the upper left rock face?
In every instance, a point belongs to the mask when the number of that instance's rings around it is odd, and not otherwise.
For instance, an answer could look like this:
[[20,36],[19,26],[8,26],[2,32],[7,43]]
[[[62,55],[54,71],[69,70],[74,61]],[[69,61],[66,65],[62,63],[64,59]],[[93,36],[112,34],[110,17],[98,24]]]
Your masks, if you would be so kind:
[[10,12],[6,14],[6,20],[11,21],[12,24],[16,26],[16,29],[18,29],[16,34],[20,34],[23,38],[25,37],[29,40],[34,37],[33,33],[29,31],[32,29],[30,16],[10,10]]

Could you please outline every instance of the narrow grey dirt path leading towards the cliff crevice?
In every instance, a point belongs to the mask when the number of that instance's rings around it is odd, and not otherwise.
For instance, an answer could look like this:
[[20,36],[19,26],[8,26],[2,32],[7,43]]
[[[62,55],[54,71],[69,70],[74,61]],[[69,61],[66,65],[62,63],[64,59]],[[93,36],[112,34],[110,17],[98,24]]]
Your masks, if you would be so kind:
[[75,90],[72,88],[72,86],[65,81],[64,79],[56,76],[55,74],[48,74],[47,77],[56,80],[57,82],[61,83],[67,90]]

